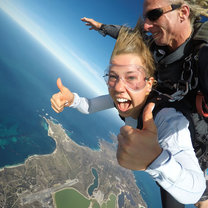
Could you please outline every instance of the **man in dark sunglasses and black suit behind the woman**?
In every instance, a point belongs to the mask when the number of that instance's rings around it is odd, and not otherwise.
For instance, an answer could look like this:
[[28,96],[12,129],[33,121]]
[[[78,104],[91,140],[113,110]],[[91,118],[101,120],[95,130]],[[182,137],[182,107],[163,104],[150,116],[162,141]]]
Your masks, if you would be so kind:
[[[198,113],[207,117],[208,109],[208,33],[205,33],[208,24],[201,26],[197,23],[201,14],[208,16],[208,9],[203,8],[206,4],[207,0],[144,0],[143,5],[143,28],[152,34],[148,39],[152,40],[150,47],[157,63],[157,89],[171,102],[182,103],[184,108],[195,113],[195,120],[203,126],[196,127],[197,137],[208,134],[207,123],[196,115],[198,110]],[[82,21],[91,26],[90,30],[97,30],[102,35],[113,38],[117,38],[121,28],[89,18],[82,18]],[[197,94],[199,89],[204,97]],[[195,102],[196,106],[193,105]],[[124,135],[128,135],[128,132]],[[122,152],[119,154],[122,155]],[[202,159],[202,165],[207,168],[207,158],[204,160]],[[128,161],[125,163],[128,164]],[[207,199],[206,193],[196,206],[207,208]],[[164,206],[168,207],[166,202]]]

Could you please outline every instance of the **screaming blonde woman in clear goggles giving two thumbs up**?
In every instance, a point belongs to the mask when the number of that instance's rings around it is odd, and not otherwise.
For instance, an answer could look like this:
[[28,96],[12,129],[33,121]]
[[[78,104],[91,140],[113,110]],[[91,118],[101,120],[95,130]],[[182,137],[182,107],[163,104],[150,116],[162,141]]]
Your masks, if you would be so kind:
[[[131,121],[134,127],[124,126],[118,135],[119,164],[147,172],[169,197],[193,204],[205,190],[205,179],[192,147],[189,122],[174,108],[160,110],[153,121],[152,106],[146,105],[154,84],[153,74],[153,59],[141,35],[122,29],[104,76],[112,99],[104,97],[107,102],[102,103],[101,97],[95,105],[89,104],[58,79],[60,92],[52,96],[52,108],[61,112],[66,106],[74,106],[84,112],[89,106],[98,111],[115,105],[126,124]],[[177,204],[173,199],[169,208],[176,207],[174,203]]]

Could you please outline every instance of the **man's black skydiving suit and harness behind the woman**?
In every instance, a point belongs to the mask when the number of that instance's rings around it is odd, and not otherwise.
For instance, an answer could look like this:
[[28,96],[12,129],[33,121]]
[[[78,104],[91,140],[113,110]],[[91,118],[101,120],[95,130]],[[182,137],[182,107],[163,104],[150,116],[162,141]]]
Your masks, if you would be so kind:
[[[103,36],[110,35],[117,38],[120,28],[121,26],[118,25],[103,24],[99,32]],[[151,39],[151,36],[147,39]],[[168,53],[167,47],[150,42],[150,49],[156,62],[158,81],[156,90],[166,103],[162,106],[185,111],[186,116],[189,114],[188,120],[192,123],[189,127],[192,143],[200,166],[206,171],[208,167],[208,22],[196,22],[191,37],[172,53]],[[200,200],[207,199],[208,188]]]

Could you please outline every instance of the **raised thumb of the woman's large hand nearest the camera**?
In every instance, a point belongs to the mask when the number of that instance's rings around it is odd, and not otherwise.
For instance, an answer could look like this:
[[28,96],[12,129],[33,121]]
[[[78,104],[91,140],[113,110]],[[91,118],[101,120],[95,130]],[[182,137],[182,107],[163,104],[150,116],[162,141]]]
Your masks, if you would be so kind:
[[153,132],[157,131],[157,128],[155,126],[155,122],[153,119],[152,111],[155,107],[154,103],[149,103],[143,112],[143,129],[147,129]]

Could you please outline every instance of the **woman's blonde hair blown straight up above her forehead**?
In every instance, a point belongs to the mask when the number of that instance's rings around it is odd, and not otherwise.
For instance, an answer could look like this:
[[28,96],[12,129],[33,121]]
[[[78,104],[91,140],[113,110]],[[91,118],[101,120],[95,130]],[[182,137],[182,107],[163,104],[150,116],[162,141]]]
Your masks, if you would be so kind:
[[154,76],[155,64],[152,54],[138,30],[132,31],[126,27],[121,28],[111,55],[111,61],[115,56],[121,54],[137,55],[142,61],[146,76]]

